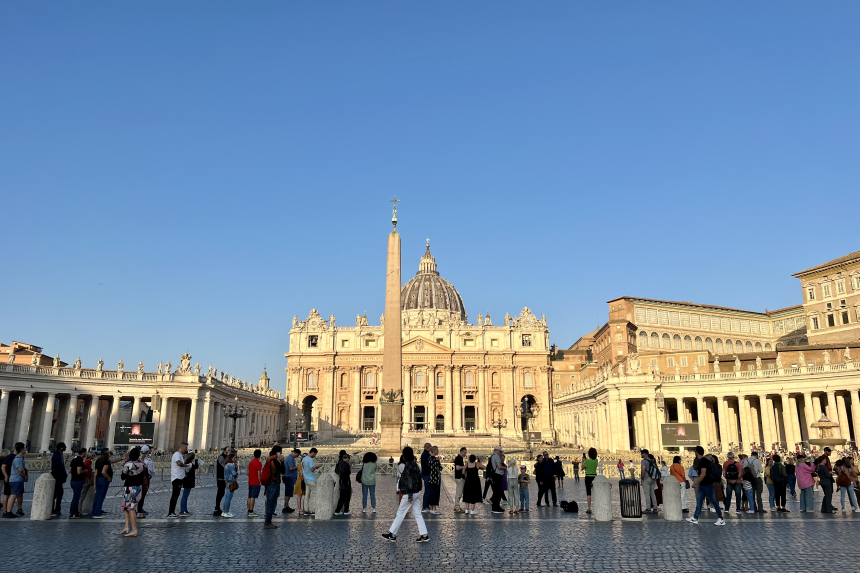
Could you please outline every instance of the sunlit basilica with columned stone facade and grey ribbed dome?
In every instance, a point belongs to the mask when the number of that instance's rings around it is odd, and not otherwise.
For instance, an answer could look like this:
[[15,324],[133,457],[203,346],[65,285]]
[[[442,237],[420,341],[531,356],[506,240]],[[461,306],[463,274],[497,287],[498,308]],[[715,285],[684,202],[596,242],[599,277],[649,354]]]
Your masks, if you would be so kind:
[[[460,293],[427,250],[403,285],[400,316],[341,326],[312,310],[293,318],[287,366],[290,429],[320,438],[379,431],[385,330],[399,320],[403,349],[403,433],[551,434],[549,329],[528,308],[493,324],[470,323]],[[521,416],[525,401],[530,417]],[[496,426],[493,422],[496,422]],[[505,421],[507,424],[505,425]]]

